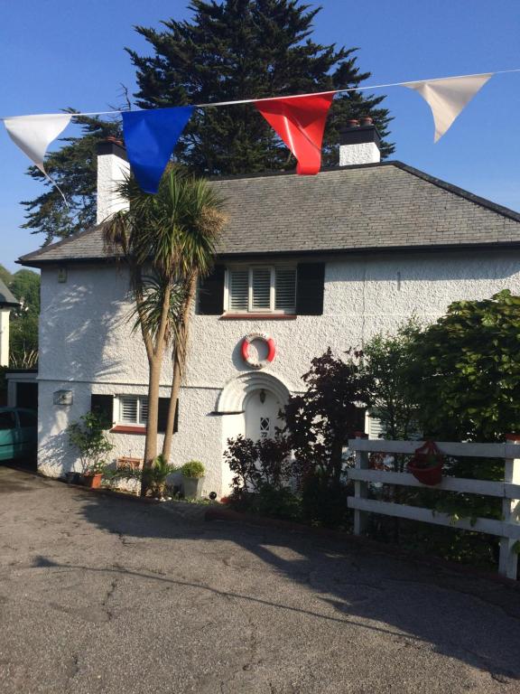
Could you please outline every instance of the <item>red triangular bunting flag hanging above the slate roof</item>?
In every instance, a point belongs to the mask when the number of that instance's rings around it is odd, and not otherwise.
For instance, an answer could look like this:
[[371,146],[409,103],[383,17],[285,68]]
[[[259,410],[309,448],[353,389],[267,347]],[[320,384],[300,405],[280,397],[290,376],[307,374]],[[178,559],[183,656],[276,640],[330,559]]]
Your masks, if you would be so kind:
[[294,98],[254,101],[255,107],[298,160],[297,174],[318,174],[321,141],[334,91]]

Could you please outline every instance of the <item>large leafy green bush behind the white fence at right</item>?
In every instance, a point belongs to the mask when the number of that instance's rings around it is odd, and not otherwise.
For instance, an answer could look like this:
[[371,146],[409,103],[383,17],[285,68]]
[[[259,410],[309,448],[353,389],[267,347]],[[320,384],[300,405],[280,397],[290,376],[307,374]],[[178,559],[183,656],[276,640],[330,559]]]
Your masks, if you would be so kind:
[[413,345],[422,430],[444,441],[520,432],[520,296],[459,301]]

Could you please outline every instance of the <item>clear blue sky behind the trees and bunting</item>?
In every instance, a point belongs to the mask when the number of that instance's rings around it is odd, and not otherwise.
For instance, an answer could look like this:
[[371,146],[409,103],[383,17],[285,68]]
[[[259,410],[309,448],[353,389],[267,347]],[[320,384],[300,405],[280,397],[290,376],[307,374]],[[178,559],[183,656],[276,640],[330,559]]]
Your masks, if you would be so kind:
[[[312,0],[307,4],[318,5]],[[105,110],[135,91],[125,46],[149,54],[135,25],[190,16],[188,0],[0,0],[0,116]],[[322,0],[314,40],[358,48],[365,84],[520,68],[517,0]],[[432,115],[411,89],[376,89],[395,118],[393,159],[520,211],[520,72],[487,82],[450,131],[433,145]],[[255,95],[244,95],[254,97]],[[70,126],[65,135],[75,132]],[[56,146],[56,145],[54,145]],[[58,145],[59,146],[59,145]],[[42,192],[29,161],[0,127],[0,264],[38,249],[23,230],[22,200]]]

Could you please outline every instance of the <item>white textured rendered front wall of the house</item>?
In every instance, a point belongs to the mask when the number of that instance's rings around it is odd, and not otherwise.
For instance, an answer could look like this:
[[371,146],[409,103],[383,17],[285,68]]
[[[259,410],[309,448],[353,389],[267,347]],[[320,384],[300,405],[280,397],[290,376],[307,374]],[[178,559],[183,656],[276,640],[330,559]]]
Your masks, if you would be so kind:
[[[520,251],[330,258],[321,316],[225,321],[194,315],[172,462],[202,461],[208,470],[205,491],[228,491],[222,449],[228,436],[243,431],[244,417],[214,412],[224,385],[251,372],[239,352],[247,333],[274,338],[276,358],[265,371],[298,391],[311,359],[328,346],[341,355],[378,331],[394,331],[411,314],[429,323],[452,301],[487,298],[506,287],[520,294]],[[70,266],[64,284],[56,269],[42,270],[39,465],[44,474],[63,474],[75,463],[64,430],[88,411],[91,393],[146,393],[147,362],[140,335],[131,333],[127,320],[126,292],[123,269]],[[166,359],[162,397],[169,395],[170,379]],[[72,406],[52,404],[58,389],[73,391]],[[142,457],[144,436],[110,436],[113,458]]]

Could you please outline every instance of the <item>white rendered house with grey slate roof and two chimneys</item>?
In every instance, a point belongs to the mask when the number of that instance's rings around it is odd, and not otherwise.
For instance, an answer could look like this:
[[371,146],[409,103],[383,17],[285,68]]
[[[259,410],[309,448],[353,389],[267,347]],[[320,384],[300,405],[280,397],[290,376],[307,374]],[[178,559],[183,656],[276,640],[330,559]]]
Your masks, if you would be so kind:
[[[406,164],[380,163],[378,141],[375,127],[353,127],[342,135],[339,167],[317,176],[213,182],[229,221],[193,315],[173,443],[174,463],[206,465],[205,492],[228,491],[228,436],[269,436],[329,345],[343,352],[411,314],[433,321],[454,300],[520,292],[520,214]],[[103,145],[101,216],[124,204],[109,179],[125,166],[121,147]],[[107,257],[100,226],[20,262],[42,269],[40,470],[74,467],[65,430],[93,403],[115,422],[114,457],[142,457],[147,362],[128,321],[125,267]],[[262,368],[244,359],[248,335],[252,361],[269,346],[275,352]],[[170,381],[167,359],[164,399]]]

